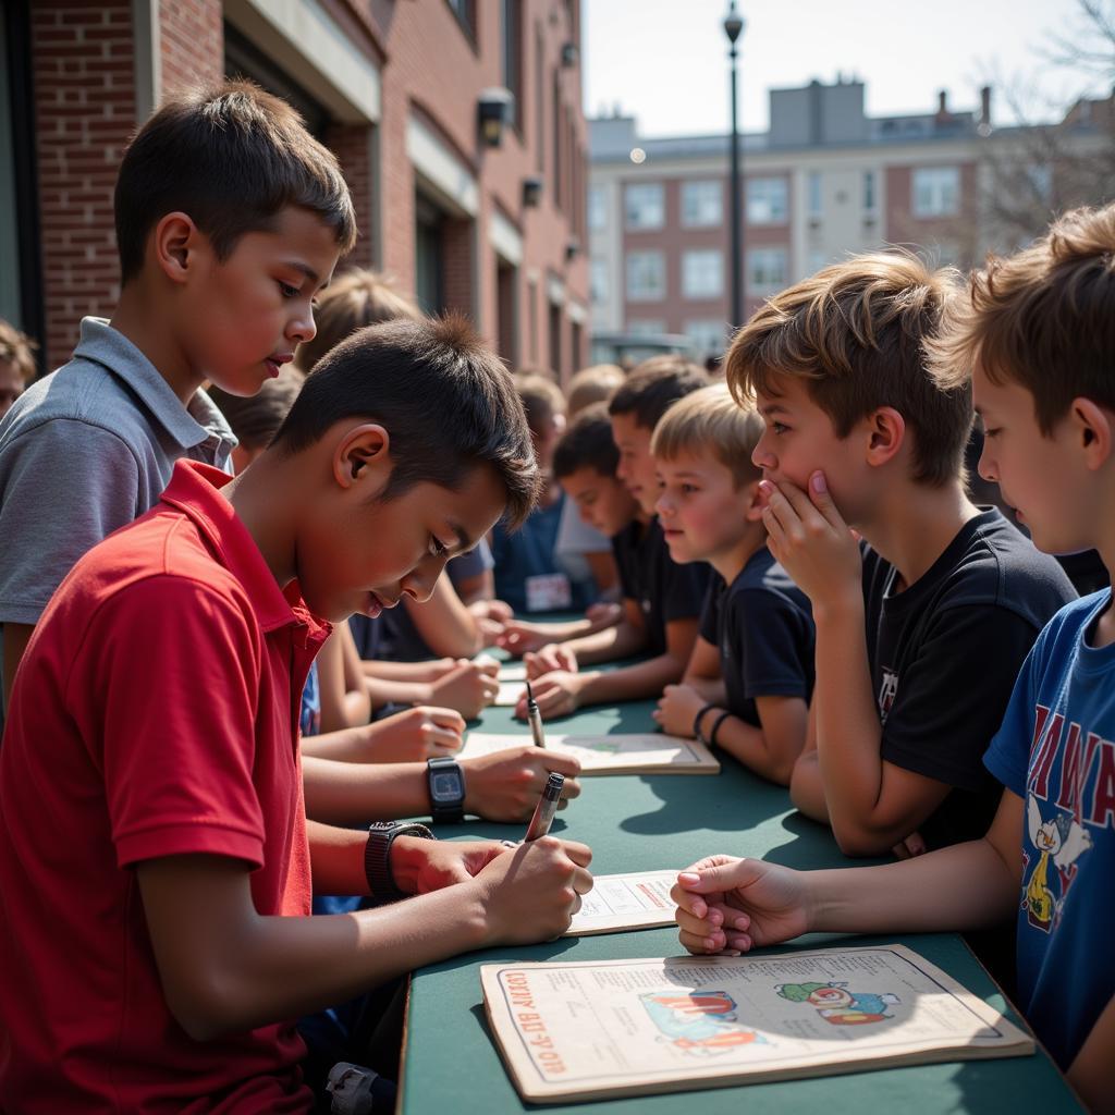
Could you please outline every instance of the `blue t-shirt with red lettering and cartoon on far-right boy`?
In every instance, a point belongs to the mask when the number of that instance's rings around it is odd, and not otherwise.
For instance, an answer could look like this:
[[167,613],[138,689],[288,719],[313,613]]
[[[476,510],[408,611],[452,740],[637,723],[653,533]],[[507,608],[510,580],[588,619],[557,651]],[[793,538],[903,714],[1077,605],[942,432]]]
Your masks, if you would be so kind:
[[1063,1069],[1115,995],[1115,644],[1088,646],[1109,603],[1050,620],[985,758],[1026,802],[1019,1006]]

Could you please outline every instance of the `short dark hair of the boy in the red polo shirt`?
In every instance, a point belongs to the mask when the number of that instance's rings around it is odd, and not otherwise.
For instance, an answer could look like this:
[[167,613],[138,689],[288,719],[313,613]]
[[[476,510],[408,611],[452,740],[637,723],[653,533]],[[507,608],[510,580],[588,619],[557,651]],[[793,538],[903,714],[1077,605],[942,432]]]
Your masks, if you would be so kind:
[[523,405],[511,372],[462,314],[369,326],[314,366],[272,446],[300,453],[336,423],[365,418],[391,436],[385,500],[423,482],[456,489],[477,465],[507,492],[518,526],[541,491]]

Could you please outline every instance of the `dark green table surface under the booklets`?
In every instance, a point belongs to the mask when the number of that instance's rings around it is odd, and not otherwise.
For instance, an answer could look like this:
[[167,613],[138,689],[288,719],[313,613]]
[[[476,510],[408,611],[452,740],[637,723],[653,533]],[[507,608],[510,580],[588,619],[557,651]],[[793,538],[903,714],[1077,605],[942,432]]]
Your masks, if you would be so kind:
[[[547,729],[558,731],[647,731],[655,728],[652,702],[586,709]],[[511,709],[486,710],[481,730],[521,734]],[[719,775],[593,776],[581,796],[558,814],[551,830],[589,844],[595,874],[681,869],[716,852],[762,856],[792,867],[846,866],[831,833],[795,813],[785,789],[748,774],[720,755]],[[442,838],[518,838],[522,826],[467,818],[442,826]],[[849,938],[812,934],[792,948],[816,948]],[[857,944],[901,942],[960,980],[973,993],[1022,1026],[1025,1022],[976,960],[951,933],[855,938]],[[804,1080],[701,1089],[588,1104],[527,1105],[515,1092],[488,1034],[481,993],[481,964],[506,960],[613,960],[670,957],[681,952],[676,928],[599,937],[565,938],[546,944],[473,952],[417,971],[410,983],[398,1109],[410,1115],[496,1115],[546,1111],[610,1115],[678,1113],[700,1105],[719,1113],[849,1112],[875,1105],[898,1112],[1080,1111],[1056,1067],[1039,1048],[1032,1057],[953,1061]]]

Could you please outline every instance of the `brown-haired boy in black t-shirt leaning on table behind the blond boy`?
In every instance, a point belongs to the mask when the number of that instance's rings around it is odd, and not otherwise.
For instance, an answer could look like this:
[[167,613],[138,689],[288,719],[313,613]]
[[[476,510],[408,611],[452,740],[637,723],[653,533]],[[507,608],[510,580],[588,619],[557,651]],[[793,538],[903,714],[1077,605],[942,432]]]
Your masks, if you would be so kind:
[[[631,522],[611,533],[623,615],[613,628],[554,642],[525,656],[527,677],[544,717],[566,716],[582,705],[658,697],[685,672],[697,639],[708,566],[678,565],[670,558],[655,518],[658,479],[650,437],[671,404],[707,384],[708,377],[690,361],[655,357],[640,365],[608,404],[615,456],[605,467],[637,502]],[[593,414],[599,437],[599,411]],[[562,445],[566,444],[563,440]],[[558,465],[555,454],[555,472]],[[571,483],[573,472],[581,469],[570,468],[561,477],[562,485],[582,505],[580,485]],[[597,472],[603,475],[599,467]],[[651,657],[646,661],[619,670],[579,669],[647,653]],[[525,697],[516,715],[525,717]]]

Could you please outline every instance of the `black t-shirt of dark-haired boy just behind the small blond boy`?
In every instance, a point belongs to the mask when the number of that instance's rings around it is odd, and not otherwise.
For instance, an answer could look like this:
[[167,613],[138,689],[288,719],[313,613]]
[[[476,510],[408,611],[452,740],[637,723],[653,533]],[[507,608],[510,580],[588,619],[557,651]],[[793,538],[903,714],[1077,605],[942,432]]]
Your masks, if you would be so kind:
[[647,525],[638,520],[612,539],[624,598],[639,604],[647,624],[647,649],[666,651],[666,624],[697,619],[701,612],[709,566],[706,562],[679,565],[666,545],[658,517]]

